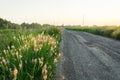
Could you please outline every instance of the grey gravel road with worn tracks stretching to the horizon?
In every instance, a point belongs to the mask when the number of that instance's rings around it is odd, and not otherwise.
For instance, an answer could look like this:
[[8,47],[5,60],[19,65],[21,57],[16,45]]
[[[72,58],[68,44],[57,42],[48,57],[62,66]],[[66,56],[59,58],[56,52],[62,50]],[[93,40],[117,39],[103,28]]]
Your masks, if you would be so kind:
[[120,42],[63,29],[57,80],[120,80]]

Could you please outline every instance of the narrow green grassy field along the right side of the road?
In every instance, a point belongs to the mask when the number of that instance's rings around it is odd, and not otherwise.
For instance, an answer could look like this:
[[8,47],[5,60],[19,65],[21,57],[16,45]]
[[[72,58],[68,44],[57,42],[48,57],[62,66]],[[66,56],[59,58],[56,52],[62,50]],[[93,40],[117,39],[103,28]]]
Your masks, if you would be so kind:
[[120,27],[117,26],[102,26],[102,27],[69,27],[69,30],[85,31],[105,37],[120,40]]

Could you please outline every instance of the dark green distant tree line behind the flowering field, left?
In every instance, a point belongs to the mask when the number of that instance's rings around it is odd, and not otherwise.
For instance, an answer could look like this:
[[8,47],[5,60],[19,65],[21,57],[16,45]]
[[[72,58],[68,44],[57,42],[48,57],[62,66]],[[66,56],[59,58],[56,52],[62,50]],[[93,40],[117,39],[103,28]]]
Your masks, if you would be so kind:
[[41,27],[54,26],[49,24],[39,24],[39,23],[25,23],[16,24],[5,19],[0,18],[0,29],[39,29]]

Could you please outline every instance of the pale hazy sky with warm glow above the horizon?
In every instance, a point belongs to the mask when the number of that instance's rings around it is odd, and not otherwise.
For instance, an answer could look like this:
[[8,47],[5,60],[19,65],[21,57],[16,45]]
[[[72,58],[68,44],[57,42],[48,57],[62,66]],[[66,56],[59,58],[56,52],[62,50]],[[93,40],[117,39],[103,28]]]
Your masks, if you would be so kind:
[[19,24],[120,25],[120,0],[0,0],[0,17]]

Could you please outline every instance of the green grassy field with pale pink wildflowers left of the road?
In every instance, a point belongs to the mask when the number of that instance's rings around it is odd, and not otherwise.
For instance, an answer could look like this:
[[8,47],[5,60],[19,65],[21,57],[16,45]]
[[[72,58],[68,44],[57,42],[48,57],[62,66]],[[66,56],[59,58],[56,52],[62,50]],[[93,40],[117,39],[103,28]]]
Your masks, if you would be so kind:
[[56,27],[0,30],[0,80],[51,80],[60,40]]

